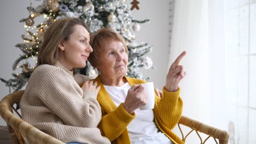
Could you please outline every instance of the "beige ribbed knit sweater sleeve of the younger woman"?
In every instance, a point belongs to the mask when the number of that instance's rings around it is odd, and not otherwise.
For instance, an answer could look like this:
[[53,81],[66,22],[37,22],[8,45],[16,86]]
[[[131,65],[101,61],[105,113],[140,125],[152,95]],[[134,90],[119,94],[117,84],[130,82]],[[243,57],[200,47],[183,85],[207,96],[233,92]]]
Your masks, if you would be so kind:
[[79,92],[79,85],[66,71],[55,68],[43,74],[34,93],[64,124],[75,127],[97,127],[101,109],[96,97]]

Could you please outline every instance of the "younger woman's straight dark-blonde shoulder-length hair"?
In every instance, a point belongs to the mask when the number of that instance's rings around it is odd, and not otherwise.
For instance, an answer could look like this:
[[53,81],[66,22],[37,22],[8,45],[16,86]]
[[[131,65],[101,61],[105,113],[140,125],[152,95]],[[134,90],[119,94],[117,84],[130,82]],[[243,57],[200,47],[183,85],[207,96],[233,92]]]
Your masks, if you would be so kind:
[[74,32],[74,26],[81,25],[86,28],[83,20],[79,18],[65,18],[57,20],[44,33],[44,40],[39,49],[37,66],[41,64],[56,64],[59,44],[67,41]]

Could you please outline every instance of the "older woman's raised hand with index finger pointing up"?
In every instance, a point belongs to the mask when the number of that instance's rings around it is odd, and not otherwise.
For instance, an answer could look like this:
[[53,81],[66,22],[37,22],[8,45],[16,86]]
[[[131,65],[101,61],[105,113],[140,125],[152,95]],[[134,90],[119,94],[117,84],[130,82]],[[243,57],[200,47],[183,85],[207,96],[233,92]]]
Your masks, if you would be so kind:
[[186,51],[183,51],[176,60],[172,63],[168,74],[166,76],[166,91],[176,92],[179,88],[179,82],[185,77],[186,73],[184,71],[183,65],[179,65],[181,59],[186,55]]

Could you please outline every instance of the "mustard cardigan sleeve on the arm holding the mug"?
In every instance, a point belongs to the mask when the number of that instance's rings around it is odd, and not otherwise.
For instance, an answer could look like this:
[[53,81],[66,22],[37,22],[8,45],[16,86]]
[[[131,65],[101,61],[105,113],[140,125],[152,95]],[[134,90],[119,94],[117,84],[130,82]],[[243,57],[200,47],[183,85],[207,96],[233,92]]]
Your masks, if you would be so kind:
[[117,109],[109,112],[101,118],[99,127],[104,136],[106,136],[110,141],[114,141],[123,134],[124,130],[135,116],[135,113],[132,115],[128,113],[124,109],[123,103],[121,103]]

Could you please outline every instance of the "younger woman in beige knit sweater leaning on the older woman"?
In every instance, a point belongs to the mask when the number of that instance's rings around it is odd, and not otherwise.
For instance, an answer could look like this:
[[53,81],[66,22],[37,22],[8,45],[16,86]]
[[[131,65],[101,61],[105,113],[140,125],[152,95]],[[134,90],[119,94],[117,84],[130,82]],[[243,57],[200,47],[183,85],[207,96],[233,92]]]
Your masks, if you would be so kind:
[[97,128],[100,87],[73,71],[85,67],[92,52],[89,41],[85,23],[78,18],[49,27],[20,101],[22,119],[65,143],[110,143]]

